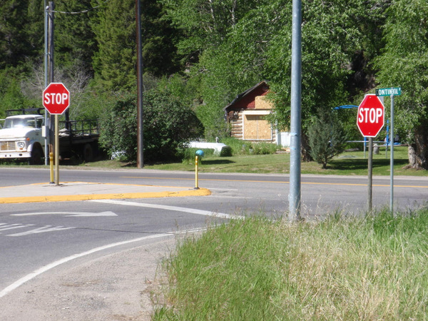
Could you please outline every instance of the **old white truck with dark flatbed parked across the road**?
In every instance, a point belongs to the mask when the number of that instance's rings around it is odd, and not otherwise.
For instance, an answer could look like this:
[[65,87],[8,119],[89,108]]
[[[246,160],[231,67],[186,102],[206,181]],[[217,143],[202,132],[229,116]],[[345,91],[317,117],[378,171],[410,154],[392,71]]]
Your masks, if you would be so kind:
[[[26,158],[29,164],[42,164],[44,158],[44,116],[39,109],[19,109],[6,114],[0,123],[0,159]],[[62,127],[62,128],[61,128]],[[76,155],[92,161],[98,152],[99,131],[94,121],[61,121],[59,134],[60,159]]]

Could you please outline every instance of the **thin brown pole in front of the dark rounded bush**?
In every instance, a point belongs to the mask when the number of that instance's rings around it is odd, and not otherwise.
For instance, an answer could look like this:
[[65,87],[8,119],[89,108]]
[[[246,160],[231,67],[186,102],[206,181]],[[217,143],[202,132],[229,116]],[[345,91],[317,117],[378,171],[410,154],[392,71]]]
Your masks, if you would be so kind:
[[141,4],[136,0],[137,35],[137,168],[143,168],[143,54],[141,50]]

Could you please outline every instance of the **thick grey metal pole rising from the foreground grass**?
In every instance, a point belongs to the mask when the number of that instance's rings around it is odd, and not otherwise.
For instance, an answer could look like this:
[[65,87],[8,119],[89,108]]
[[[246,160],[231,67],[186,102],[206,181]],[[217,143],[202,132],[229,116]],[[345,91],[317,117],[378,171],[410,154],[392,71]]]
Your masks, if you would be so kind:
[[300,146],[302,145],[302,1],[292,1],[289,220],[300,220]]

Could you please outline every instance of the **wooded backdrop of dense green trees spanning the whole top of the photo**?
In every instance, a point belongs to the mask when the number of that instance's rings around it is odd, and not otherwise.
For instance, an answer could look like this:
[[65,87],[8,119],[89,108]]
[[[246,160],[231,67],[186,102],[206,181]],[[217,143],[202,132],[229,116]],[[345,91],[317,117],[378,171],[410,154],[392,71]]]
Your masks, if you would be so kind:
[[[267,80],[272,122],[287,128],[291,0],[141,0],[141,7],[146,91],[190,108],[211,139],[228,135],[223,107]],[[71,118],[99,118],[136,92],[135,1],[62,0],[55,11],[55,80],[73,95]],[[358,105],[376,86],[401,86],[395,128],[411,165],[428,168],[427,2],[304,1],[302,15],[304,133],[320,108]],[[44,1],[1,1],[0,17],[1,118],[6,109],[41,107]],[[389,115],[389,99],[385,105]],[[348,138],[360,139],[355,111],[338,113]]]

